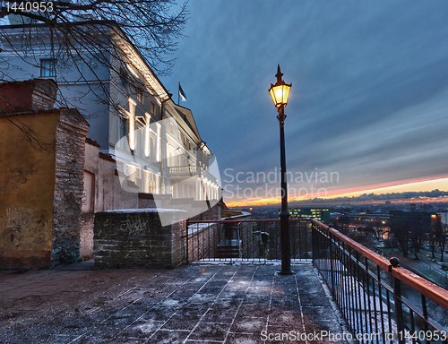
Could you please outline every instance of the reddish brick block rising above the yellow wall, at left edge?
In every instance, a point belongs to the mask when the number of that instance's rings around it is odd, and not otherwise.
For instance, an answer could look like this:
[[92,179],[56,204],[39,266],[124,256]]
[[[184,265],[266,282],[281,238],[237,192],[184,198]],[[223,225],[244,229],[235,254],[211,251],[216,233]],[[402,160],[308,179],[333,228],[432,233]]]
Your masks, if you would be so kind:
[[0,83],[0,113],[37,112],[54,108],[57,84],[51,79]]

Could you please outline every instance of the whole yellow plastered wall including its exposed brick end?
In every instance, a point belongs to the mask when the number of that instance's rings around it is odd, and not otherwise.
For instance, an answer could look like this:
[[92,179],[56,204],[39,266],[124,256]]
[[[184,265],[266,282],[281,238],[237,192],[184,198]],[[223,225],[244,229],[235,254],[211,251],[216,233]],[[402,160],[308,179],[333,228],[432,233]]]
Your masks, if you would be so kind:
[[[39,140],[26,140],[10,122],[18,120]],[[1,268],[48,268],[79,256],[87,128],[70,109],[0,118]]]

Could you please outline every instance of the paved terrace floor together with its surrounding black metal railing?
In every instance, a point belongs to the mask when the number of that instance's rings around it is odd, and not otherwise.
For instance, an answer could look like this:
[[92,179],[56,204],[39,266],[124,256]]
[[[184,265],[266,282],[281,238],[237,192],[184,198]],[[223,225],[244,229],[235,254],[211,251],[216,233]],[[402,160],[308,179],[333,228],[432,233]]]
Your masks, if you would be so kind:
[[446,342],[443,288],[314,220],[291,220],[294,274],[280,276],[279,233],[188,221],[174,270],[0,271],[0,342]]

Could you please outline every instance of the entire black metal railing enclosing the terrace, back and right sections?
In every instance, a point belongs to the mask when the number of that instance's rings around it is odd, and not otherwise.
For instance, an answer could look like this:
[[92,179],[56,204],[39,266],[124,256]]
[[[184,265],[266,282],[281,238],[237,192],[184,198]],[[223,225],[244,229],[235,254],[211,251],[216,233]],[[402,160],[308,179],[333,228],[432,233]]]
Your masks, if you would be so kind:
[[[187,262],[280,260],[279,219],[187,221],[187,228]],[[321,273],[355,342],[448,343],[444,288],[314,219],[290,219],[290,243],[293,262],[313,262]]]

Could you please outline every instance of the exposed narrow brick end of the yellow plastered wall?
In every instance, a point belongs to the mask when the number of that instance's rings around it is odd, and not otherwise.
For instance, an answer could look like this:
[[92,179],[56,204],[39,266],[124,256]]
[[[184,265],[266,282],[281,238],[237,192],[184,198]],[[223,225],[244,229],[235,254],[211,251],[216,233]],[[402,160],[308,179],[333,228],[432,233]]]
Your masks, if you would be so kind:
[[89,125],[77,110],[60,110],[56,125],[56,183],[53,205],[53,265],[80,256],[85,136]]

